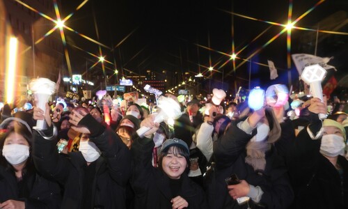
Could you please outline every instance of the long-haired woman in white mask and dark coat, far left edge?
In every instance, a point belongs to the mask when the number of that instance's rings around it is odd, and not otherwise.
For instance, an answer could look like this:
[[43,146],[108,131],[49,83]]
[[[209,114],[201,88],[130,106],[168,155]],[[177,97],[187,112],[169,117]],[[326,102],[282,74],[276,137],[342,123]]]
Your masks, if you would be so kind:
[[35,169],[31,145],[31,130],[24,125],[0,137],[0,208],[61,206],[61,188]]

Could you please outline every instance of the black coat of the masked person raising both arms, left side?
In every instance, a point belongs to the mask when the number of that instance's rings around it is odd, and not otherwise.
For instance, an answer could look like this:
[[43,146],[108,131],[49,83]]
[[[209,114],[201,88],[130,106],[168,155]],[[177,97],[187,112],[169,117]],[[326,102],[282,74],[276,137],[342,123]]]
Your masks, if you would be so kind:
[[[62,208],[81,208],[86,160],[81,152],[70,153],[69,157],[58,155],[56,140],[44,139],[41,134],[34,132],[35,166],[63,185]],[[125,208],[125,185],[131,171],[127,146],[110,128],[95,138],[91,136],[90,140],[100,148],[102,155],[97,159],[95,178],[91,182],[93,200],[89,208]]]

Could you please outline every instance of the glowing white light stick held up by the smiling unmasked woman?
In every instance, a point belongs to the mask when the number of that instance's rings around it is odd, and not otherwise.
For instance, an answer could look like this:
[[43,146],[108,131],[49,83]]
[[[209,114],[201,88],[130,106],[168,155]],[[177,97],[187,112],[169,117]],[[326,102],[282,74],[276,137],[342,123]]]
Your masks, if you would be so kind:
[[[161,111],[159,113],[155,113],[155,123],[161,123],[166,120],[176,119],[179,118],[182,115],[180,104],[175,102],[175,100],[171,98],[161,97],[158,100],[158,107],[161,108]],[[136,130],[136,133],[139,135],[139,137],[143,137],[143,134],[145,132],[148,132],[150,130],[150,127],[142,126],[139,128],[139,130]]]

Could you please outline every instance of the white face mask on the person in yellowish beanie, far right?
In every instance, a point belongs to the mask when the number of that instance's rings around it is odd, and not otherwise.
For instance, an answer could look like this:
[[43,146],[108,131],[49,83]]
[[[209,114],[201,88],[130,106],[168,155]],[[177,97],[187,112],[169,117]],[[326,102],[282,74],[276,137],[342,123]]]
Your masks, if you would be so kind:
[[329,157],[335,157],[343,154],[345,143],[343,137],[336,134],[327,134],[322,137],[322,144],[320,145],[320,153]]

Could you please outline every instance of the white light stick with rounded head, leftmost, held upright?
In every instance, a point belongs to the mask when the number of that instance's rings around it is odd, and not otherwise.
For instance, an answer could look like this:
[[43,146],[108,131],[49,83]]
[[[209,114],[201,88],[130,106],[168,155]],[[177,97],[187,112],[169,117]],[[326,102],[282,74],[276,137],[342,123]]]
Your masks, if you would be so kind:
[[[56,83],[52,82],[47,78],[33,79],[30,83],[30,89],[33,91],[36,101],[36,106],[44,111],[46,111],[46,103],[49,97],[54,93],[56,88]],[[45,120],[37,120],[36,126],[33,127],[36,130],[44,130],[46,128]]]

